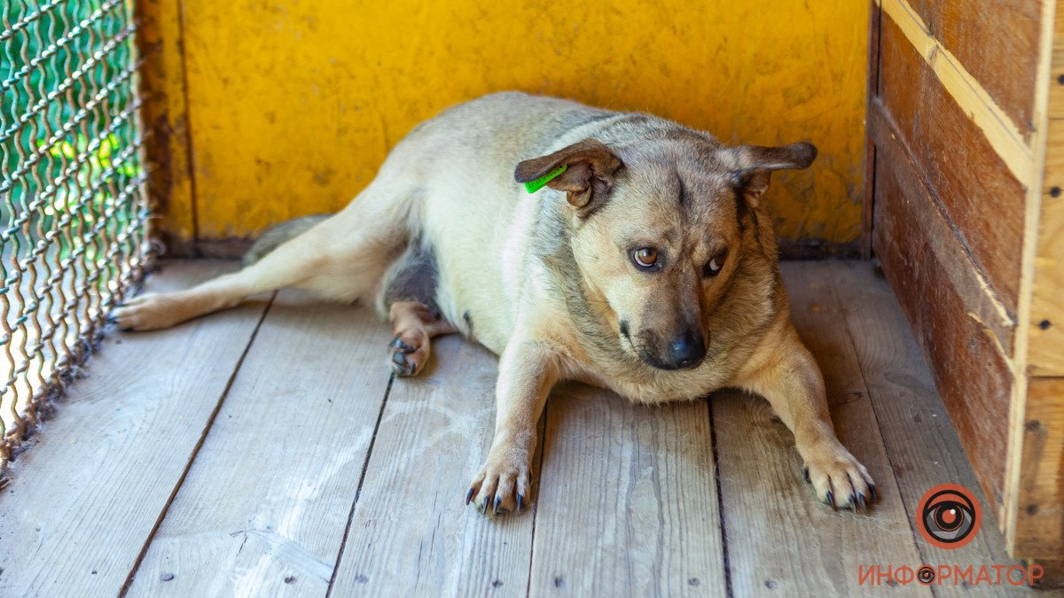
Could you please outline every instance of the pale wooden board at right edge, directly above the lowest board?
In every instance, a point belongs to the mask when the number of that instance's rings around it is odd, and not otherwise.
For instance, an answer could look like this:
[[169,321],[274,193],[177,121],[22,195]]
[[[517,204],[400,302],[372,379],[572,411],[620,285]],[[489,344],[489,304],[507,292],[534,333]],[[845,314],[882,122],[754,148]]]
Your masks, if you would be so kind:
[[1027,371],[1064,376],[1064,121],[1049,123],[1044,189]]

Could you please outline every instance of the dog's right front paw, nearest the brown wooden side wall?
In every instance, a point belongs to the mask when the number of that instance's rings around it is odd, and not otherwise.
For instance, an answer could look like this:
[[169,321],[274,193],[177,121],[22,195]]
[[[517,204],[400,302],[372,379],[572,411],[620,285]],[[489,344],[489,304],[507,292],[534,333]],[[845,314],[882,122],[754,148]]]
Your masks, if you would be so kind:
[[809,451],[805,481],[813,484],[816,497],[832,509],[865,511],[878,498],[868,470],[838,444]]

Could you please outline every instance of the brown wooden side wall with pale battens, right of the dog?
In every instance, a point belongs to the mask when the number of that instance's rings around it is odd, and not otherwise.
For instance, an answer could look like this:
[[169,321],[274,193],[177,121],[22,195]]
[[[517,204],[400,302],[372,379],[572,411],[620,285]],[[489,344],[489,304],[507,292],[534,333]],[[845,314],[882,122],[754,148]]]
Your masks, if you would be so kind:
[[874,3],[867,122],[866,249],[1010,552],[1047,560],[1064,554],[1062,11]]

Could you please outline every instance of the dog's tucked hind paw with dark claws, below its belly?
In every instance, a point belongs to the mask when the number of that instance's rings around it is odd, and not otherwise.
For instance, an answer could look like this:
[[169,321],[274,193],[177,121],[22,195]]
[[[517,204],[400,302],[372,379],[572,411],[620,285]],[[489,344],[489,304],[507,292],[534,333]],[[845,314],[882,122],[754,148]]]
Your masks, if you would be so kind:
[[420,301],[397,301],[388,311],[395,338],[388,345],[388,364],[397,376],[417,376],[429,361],[433,336],[453,334],[454,325]]

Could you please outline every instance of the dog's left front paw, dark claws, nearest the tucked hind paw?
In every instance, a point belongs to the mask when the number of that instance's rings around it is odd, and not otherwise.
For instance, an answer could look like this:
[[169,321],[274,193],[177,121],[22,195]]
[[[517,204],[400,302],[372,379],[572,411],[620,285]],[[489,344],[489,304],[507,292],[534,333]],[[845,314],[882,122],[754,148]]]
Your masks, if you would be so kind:
[[466,504],[481,513],[520,513],[529,497],[528,458],[516,448],[492,447],[487,462],[469,485]]

